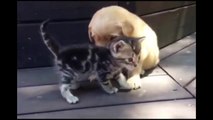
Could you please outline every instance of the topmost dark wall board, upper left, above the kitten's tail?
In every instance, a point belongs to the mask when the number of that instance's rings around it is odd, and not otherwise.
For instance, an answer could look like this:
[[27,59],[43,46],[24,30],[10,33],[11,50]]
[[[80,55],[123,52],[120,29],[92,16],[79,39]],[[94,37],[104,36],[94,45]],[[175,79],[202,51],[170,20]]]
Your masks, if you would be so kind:
[[18,1],[18,23],[26,21],[89,19],[96,10],[116,1]]

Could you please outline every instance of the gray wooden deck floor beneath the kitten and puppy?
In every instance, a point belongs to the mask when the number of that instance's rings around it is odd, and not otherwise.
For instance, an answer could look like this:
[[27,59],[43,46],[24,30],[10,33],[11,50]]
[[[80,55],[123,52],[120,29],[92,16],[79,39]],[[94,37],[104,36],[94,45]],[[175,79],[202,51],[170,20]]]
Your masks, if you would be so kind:
[[196,33],[160,54],[141,89],[107,95],[85,84],[74,105],[61,97],[54,68],[18,69],[17,118],[196,118]]

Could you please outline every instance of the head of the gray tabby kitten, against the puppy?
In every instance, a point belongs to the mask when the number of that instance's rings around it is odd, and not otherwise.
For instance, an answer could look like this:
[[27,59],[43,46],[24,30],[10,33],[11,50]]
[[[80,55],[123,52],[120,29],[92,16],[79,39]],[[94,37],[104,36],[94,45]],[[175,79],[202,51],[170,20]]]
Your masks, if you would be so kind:
[[141,50],[140,43],[143,38],[119,37],[112,42],[110,51],[121,67],[134,70],[138,65],[138,54]]

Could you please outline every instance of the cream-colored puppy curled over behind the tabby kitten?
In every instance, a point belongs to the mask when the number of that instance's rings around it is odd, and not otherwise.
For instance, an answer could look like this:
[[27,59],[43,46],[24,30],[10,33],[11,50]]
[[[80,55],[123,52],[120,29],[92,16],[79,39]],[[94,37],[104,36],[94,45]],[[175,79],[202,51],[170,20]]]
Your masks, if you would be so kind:
[[140,64],[129,73],[127,82],[133,89],[141,87],[140,73],[159,63],[157,36],[140,17],[119,6],[109,6],[98,10],[92,17],[88,34],[97,46],[106,46],[115,36],[142,37]]

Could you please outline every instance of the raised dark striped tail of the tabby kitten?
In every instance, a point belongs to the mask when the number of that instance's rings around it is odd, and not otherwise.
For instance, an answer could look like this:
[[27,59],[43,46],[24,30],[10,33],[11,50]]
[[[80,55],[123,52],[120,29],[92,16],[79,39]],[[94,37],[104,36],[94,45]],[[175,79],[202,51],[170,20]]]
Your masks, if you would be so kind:
[[59,53],[60,45],[46,32],[47,31],[47,25],[50,19],[45,20],[40,25],[40,33],[42,36],[42,40],[47,46],[47,48],[52,52],[52,54],[57,57]]

